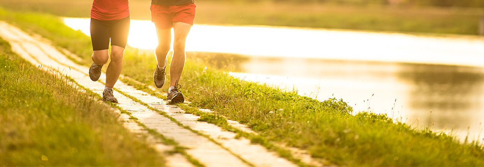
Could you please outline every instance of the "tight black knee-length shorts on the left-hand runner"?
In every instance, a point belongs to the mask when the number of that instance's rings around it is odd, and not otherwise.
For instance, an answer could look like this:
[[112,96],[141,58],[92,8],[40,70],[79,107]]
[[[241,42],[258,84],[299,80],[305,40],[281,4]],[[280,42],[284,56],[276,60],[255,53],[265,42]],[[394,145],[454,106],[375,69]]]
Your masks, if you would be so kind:
[[129,22],[129,16],[119,20],[98,20],[91,18],[93,50],[109,49],[110,39],[112,46],[125,48],[129,33]]

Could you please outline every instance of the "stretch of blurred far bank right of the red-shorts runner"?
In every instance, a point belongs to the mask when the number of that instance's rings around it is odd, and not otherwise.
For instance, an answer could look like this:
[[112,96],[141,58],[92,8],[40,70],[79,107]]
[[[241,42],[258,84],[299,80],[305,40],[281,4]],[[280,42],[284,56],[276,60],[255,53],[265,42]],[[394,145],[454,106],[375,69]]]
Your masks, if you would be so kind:
[[484,9],[387,5],[241,3],[234,7],[203,2],[198,6],[197,23],[469,35],[479,34],[484,15]]

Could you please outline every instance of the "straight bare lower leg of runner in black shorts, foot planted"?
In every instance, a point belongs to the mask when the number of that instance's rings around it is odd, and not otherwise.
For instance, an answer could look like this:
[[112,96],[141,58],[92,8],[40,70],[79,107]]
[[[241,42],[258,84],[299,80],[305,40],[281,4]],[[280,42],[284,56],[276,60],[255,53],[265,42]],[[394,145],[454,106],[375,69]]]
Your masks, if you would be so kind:
[[112,45],[111,46],[111,62],[106,71],[106,86],[114,87],[121,74],[122,57],[124,55],[124,48]]

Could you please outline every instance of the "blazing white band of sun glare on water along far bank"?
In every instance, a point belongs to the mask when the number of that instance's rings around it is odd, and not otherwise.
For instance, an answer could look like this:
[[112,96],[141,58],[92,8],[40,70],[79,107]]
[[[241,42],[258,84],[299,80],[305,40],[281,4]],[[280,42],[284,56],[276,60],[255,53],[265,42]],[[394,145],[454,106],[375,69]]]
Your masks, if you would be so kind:
[[[65,18],[64,21],[90,34],[89,18]],[[151,21],[131,20],[128,45],[154,49],[157,44]],[[482,39],[309,28],[196,24],[188,34],[186,51],[484,67]]]

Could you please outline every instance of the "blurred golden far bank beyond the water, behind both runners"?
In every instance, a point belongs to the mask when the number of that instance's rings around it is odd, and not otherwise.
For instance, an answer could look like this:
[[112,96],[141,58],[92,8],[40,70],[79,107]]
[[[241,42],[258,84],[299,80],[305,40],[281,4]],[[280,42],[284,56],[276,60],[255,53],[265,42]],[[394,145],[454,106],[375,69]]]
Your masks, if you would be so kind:
[[[388,5],[387,0],[199,0],[195,23],[478,35],[484,5],[469,1],[402,0]],[[129,3],[132,19],[150,19],[149,0]],[[69,17],[89,17],[91,5],[90,0],[0,0],[0,6],[13,10]]]

